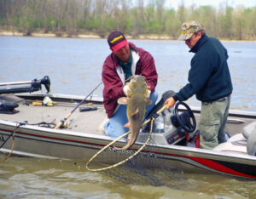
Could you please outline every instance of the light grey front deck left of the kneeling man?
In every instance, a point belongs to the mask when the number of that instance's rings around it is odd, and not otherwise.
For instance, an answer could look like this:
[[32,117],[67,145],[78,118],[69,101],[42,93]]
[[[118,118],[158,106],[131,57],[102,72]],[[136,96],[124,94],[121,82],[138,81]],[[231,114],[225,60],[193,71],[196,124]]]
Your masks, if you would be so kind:
[[[53,106],[32,105],[32,101],[26,100],[14,95],[2,95],[0,99],[17,103],[19,106],[15,108],[19,111],[15,114],[0,113],[0,119],[13,122],[27,122],[29,124],[38,125],[38,123],[54,123],[55,125],[67,117],[71,111],[78,105],[77,102],[55,102]],[[96,106],[96,111],[79,111],[81,107]],[[104,134],[99,129],[101,123],[107,119],[103,105],[80,105],[73,114],[67,119],[67,129],[76,132],[86,132],[91,134]]]

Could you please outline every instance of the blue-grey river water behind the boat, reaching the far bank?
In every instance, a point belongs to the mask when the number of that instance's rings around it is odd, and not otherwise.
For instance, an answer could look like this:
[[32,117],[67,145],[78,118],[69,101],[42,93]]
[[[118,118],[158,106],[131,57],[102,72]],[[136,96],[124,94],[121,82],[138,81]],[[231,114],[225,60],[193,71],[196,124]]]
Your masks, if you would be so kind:
[[[154,56],[159,94],[187,83],[193,56],[181,41],[132,40]],[[228,49],[234,91],[231,109],[256,111],[256,42],[223,42]],[[103,39],[0,37],[0,82],[30,81],[48,75],[51,92],[87,95],[102,81],[110,50]],[[102,88],[95,94],[102,96]],[[189,105],[200,106],[195,97]]]

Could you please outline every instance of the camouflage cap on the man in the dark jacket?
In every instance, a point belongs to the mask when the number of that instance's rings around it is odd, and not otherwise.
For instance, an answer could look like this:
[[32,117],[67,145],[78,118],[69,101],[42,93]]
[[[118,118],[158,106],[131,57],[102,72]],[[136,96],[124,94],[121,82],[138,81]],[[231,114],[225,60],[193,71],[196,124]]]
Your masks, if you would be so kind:
[[201,30],[203,30],[203,26],[196,20],[184,22],[182,25],[182,34],[177,38],[177,40],[187,40],[192,37],[195,32]]

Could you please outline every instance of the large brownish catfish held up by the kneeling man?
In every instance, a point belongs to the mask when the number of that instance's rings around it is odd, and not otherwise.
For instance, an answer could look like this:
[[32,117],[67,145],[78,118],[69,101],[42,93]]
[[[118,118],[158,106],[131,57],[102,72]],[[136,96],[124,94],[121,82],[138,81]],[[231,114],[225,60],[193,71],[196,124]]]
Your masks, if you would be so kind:
[[135,143],[145,116],[146,105],[151,104],[148,99],[148,88],[146,79],[143,76],[135,75],[131,77],[129,83],[128,96],[118,99],[119,104],[127,104],[127,117],[131,126],[131,136],[127,144],[122,148],[128,149]]

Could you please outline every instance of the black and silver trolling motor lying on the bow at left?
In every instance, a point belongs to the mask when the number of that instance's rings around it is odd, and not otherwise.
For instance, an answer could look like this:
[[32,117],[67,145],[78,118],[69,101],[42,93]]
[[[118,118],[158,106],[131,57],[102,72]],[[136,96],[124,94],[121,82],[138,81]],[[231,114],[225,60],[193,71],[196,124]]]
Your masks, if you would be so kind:
[[[26,82],[5,82],[0,83],[0,94],[32,93],[42,89],[42,84],[49,93],[50,81],[48,76],[42,79],[34,79]],[[2,88],[3,87],[3,88]]]

